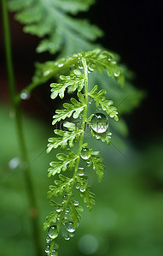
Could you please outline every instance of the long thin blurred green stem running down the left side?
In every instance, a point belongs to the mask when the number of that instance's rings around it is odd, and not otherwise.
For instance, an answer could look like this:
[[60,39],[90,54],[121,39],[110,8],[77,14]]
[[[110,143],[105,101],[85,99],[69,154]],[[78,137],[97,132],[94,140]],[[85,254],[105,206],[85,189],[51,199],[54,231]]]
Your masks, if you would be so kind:
[[3,33],[4,33],[4,44],[5,44],[5,55],[6,55],[6,64],[7,64],[7,72],[8,72],[8,80],[9,80],[9,92],[12,106],[15,110],[15,125],[18,134],[19,146],[20,146],[20,154],[23,162],[23,174],[26,183],[26,194],[29,201],[29,207],[31,212],[31,222],[32,222],[32,235],[33,241],[36,246],[36,255],[40,256],[41,246],[39,239],[39,228],[38,228],[38,213],[37,213],[37,203],[36,197],[34,193],[34,188],[32,184],[32,176],[29,166],[29,161],[27,158],[26,152],[26,143],[22,129],[22,122],[20,116],[20,105],[16,103],[16,87],[15,87],[15,74],[12,62],[12,52],[11,52],[11,40],[10,40],[10,31],[9,31],[9,15],[7,8],[7,1],[2,0],[2,15],[3,15]]

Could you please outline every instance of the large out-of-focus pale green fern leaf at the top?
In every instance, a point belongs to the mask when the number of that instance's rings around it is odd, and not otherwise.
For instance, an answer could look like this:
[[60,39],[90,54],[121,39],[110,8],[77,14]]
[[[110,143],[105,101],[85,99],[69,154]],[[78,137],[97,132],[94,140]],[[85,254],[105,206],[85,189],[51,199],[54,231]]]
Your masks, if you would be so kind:
[[38,45],[38,52],[55,54],[62,50],[63,55],[68,55],[90,49],[90,41],[102,36],[102,31],[89,21],[68,15],[89,9],[91,3],[93,0],[9,0],[9,9],[16,11],[16,19],[25,24],[24,32],[46,36]]

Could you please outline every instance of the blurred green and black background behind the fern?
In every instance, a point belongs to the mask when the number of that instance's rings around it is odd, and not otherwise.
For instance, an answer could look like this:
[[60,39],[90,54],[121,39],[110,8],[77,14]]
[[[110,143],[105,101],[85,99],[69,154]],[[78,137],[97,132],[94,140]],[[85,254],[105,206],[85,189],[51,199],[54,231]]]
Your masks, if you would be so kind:
[[[94,20],[98,10],[97,24],[101,24],[106,32],[102,44],[118,51],[122,61],[137,75],[132,80],[135,87],[127,80],[124,90],[105,75],[102,77],[109,97],[114,99],[115,105],[119,105],[120,120],[109,125],[114,133],[110,146],[95,138],[87,138],[90,147],[101,152],[107,170],[102,183],[98,183],[96,175],[90,171],[90,185],[96,193],[96,205],[91,212],[84,209],[79,228],[70,241],[59,238],[60,251],[61,255],[72,256],[161,256],[163,137],[159,31],[162,4],[159,5],[159,1],[148,4],[118,4],[114,1],[109,3],[108,15],[108,9],[103,8],[104,1],[99,2],[91,9],[90,16]],[[13,15],[10,15],[10,20],[16,80],[19,89],[22,89],[31,80],[33,61],[44,61],[47,55],[38,57],[34,52],[38,39],[22,34],[21,26],[14,21]],[[3,53],[2,40],[0,46]],[[24,51],[24,47],[27,51]],[[20,64],[22,59],[25,60],[23,65]],[[0,255],[34,256],[25,182],[20,170],[22,163],[4,63],[1,68],[0,99]],[[46,215],[52,211],[46,193],[53,178],[47,178],[47,169],[57,152],[48,155],[45,149],[47,139],[53,136],[52,115],[59,106],[59,101],[53,103],[49,100],[49,83],[37,88],[31,98],[21,104],[38,198],[43,249],[46,234],[42,226]],[[93,109],[94,106],[90,105],[90,111]]]

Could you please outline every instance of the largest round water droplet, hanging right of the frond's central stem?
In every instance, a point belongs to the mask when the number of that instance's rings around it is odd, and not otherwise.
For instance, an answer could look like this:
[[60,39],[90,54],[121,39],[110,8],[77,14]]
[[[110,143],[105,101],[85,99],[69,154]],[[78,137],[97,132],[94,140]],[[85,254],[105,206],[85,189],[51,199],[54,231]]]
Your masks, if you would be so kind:
[[105,133],[108,129],[108,119],[102,113],[96,113],[91,119],[90,127],[97,134]]

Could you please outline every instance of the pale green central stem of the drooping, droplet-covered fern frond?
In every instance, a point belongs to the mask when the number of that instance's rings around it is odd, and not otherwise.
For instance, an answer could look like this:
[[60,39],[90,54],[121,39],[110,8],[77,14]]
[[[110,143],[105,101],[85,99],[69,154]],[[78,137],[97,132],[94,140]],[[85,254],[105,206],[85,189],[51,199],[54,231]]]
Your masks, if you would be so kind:
[[[76,182],[77,172],[79,170],[80,153],[81,153],[83,142],[84,142],[84,126],[85,126],[85,122],[86,122],[86,118],[87,118],[87,104],[88,104],[88,68],[87,68],[87,64],[86,64],[86,61],[85,61],[84,58],[82,58],[82,63],[83,63],[83,66],[84,66],[84,98],[85,98],[84,116],[83,116],[83,122],[82,122],[82,128],[81,128],[83,130],[83,133],[81,134],[80,140],[79,140],[79,148],[78,148],[78,153],[77,153],[78,158],[77,158],[75,168],[74,168],[74,172],[73,172],[72,189],[71,189],[70,193],[68,193],[68,195],[67,195],[67,203],[64,205],[63,211],[61,212],[60,222],[57,224],[57,229],[58,230],[61,228],[61,222],[62,222],[62,219],[65,215],[65,210],[67,208],[67,204],[68,204],[69,199],[71,198],[71,196],[73,194],[73,187],[74,187],[74,184]],[[51,242],[49,255],[51,255],[50,253],[53,251],[54,246],[55,246],[55,239]]]

